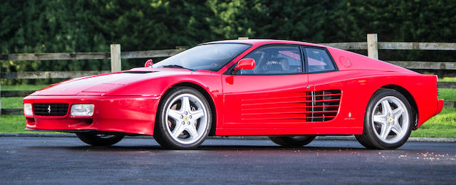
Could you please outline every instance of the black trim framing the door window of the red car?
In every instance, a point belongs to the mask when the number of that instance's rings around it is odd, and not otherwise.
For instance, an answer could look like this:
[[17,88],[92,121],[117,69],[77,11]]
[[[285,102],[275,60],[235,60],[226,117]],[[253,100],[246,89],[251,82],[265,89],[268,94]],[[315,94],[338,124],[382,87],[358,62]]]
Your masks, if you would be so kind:
[[[262,49],[262,48],[267,48],[267,47],[274,47],[274,46],[288,46],[288,47],[296,47],[298,48],[298,51],[301,55],[301,66],[304,68],[304,53],[301,49],[301,47],[303,45],[301,44],[293,44],[293,43],[266,43],[264,45],[261,45],[261,46],[258,46],[257,48],[255,48],[254,50],[250,51],[249,53],[247,53],[245,56],[248,56],[250,53],[253,53],[259,49]],[[245,57],[244,56],[244,57]],[[242,60],[244,59],[241,58],[239,60]],[[234,74],[234,67],[236,67],[237,63],[239,61],[237,61],[236,63],[234,63],[234,65],[232,65],[230,68],[228,68],[228,70],[225,71],[224,75],[245,75],[245,76],[266,76],[266,75],[302,75],[302,74],[306,74],[306,69],[302,69],[301,72],[298,72],[298,73],[277,73],[277,74]]]

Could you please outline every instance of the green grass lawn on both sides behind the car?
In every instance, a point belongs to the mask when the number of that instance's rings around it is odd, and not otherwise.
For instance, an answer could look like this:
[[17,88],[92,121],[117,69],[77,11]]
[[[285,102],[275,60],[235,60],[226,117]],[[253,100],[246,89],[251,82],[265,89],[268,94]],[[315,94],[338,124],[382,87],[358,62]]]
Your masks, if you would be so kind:
[[[456,78],[442,78],[439,81],[456,82]],[[38,90],[46,85],[2,85],[1,90]],[[439,89],[439,98],[456,101],[456,89]],[[22,108],[22,97],[2,97],[1,107],[4,109]],[[0,117],[0,132],[26,132],[24,115],[3,115]],[[43,132],[39,132],[43,133]],[[411,137],[455,137],[456,108],[443,108],[442,112],[427,120]]]

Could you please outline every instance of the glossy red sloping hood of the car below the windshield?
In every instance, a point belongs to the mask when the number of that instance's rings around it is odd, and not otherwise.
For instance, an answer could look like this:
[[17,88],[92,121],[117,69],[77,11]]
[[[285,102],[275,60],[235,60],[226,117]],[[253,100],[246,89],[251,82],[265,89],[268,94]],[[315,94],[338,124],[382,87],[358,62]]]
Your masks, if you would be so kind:
[[118,73],[106,73],[66,80],[37,90],[31,95],[105,95],[113,90],[128,88],[144,80],[194,73],[176,68],[133,68]]

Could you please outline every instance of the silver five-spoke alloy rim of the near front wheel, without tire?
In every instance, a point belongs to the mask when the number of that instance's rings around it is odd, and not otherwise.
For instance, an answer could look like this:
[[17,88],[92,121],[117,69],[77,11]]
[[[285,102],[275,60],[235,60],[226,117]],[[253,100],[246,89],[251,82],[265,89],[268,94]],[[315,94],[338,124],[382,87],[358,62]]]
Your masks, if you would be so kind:
[[182,94],[166,107],[167,132],[180,144],[197,142],[207,129],[207,110],[198,97]]

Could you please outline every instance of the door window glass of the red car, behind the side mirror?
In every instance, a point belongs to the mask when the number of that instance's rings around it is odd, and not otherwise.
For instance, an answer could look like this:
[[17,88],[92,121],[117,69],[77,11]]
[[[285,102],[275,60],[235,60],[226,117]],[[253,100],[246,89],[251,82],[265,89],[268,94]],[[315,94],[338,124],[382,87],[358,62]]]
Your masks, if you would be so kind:
[[297,46],[266,46],[244,58],[253,58],[253,70],[239,70],[237,75],[286,75],[303,72],[301,52]]

